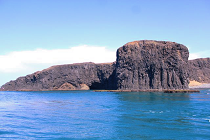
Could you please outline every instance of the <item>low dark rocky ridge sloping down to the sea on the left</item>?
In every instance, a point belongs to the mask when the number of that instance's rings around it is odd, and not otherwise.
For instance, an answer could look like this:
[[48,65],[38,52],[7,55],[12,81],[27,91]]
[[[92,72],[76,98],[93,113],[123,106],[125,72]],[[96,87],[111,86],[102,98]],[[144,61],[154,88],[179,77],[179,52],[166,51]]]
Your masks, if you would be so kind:
[[80,63],[53,66],[2,86],[4,90],[88,90],[116,89],[115,63]]

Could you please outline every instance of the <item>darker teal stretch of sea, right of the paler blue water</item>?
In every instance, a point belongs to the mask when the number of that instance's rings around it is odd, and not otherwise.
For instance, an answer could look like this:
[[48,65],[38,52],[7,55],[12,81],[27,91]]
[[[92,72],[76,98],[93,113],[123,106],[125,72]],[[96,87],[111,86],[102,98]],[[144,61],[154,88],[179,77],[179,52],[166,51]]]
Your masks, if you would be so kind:
[[[138,139],[193,139],[210,136],[210,96],[201,93],[133,92],[117,93],[124,102],[120,107],[119,129],[127,137]],[[202,100],[201,100],[202,99]],[[132,114],[132,115],[131,115]],[[135,130],[135,131],[132,131]],[[170,136],[170,137],[169,137]]]

